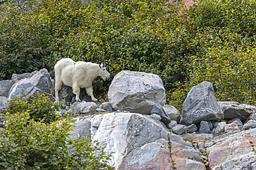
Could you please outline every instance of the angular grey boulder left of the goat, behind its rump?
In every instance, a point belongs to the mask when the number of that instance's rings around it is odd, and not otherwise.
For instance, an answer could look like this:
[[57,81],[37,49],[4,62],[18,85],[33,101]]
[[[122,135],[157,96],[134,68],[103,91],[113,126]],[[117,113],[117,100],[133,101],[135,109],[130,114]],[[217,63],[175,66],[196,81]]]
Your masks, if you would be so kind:
[[53,83],[51,76],[46,69],[31,73],[30,78],[24,78],[12,85],[8,98],[17,98],[22,94],[53,94]]

